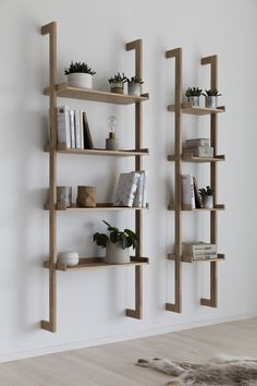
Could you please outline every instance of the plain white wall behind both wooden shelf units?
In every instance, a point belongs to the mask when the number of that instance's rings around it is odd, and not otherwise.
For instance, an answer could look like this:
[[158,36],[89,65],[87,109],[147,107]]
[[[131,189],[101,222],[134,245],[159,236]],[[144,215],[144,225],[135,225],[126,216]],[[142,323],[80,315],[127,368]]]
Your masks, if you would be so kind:
[[[256,206],[256,11],[255,0],[1,0],[1,269],[0,360],[93,345],[184,325],[213,323],[257,312]],[[48,274],[41,267],[48,253],[48,214],[42,210],[48,185],[48,155],[42,153],[48,98],[48,38],[40,26],[58,22],[58,68],[83,60],[97,71],[95,87],[107,89],[117,71],[133,75],[133,53],[124,45],[144,40],[144,142],[150,148],[150,210],[144,215],[144,319],[124,316],[133,306],[133,269],[96,269],[58,274],[58,333],[39,328],[48,315]],[[167,253],[173,243],[173,214],[167,212],[172,189],[173,116],[166,106],[174,101],[173,61],[167,49],[183,47],[184,88],[208,87],[208,70],[200,58],[219,55],[219,88],[227,113],[219,117],[219,307],[199,305],[208,297],[208,264],[184,265],[183,313],[166,312],[173,295],[173,265]],[[133,107],[60,100],[85,107],[96,146],[103,146],[107,118],[119,118],[123,146],[133,146]],[[206,135],[208,118],[184,118],[184,135]],[[93,159],[94,158],[94,159]],[[96,184],[98,200],[109,201],[117,176],[131,170],[133,160],[59,155],[58,184]],[[186,166],[199,184],[208,182],[206,166]],[[75,192],[74,192],[75,193]],[[96,253],[91,234],[105,218],[133,226],[127,213],[58,214],[59,250]],[[184,214],[184,236],[208,238],[208,215]]]

